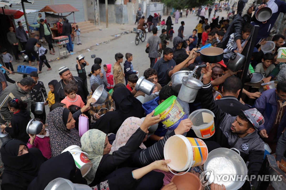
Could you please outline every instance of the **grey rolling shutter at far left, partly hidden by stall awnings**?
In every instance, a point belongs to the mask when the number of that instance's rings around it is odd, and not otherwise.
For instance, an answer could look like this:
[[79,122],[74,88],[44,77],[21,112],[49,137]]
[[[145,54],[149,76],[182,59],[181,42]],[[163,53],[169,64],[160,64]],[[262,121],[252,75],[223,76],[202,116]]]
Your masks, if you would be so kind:
[[[33,10],[41,10],[46,5],[49,5],[49,0],[37,0],[34,1],[34,4],[31,3],[24,3],[25,9],[33,9]],[[9,9],[17,10],[22,9],[22,4],[19,5],[12,5],[12,7],[9,7]],[[30,13],[27,14],[27,20],[29,24],[36,23],[37,22],[38,13]],[[42,18],[45,19],[45,13],[42,13]]]

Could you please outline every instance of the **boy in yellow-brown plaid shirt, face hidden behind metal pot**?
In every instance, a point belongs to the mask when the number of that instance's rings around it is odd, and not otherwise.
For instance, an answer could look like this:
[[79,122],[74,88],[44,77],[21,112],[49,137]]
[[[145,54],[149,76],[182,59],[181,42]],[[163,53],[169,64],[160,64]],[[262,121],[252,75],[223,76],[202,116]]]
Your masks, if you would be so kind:
[[[96,90],[96,88],[98,86],[99,86],[99,84],[97,84],[97,83],[92,84],[91,92],[87,96],[86,100],[88,100],[92,97],[92,94],[94,93],[94,91]],[[109,107],[110,107],[110,110],[108,110]],[[107,109],[101,109],[101,108],[107,108]],[[110,96],[110,94],[107,93],[107,98],[106,98],[105,102],[102,104],[92,104],[91,109],[88,110],[88,113],[91,116],[91,122],[96,122],[96,120],[98,120],[102,114],[106,114],[106,112],[108,112],[108,111],[110,112],[110,111],[114,111],[114,110],[115,110],[114,101],[113,101],[112,97]]]

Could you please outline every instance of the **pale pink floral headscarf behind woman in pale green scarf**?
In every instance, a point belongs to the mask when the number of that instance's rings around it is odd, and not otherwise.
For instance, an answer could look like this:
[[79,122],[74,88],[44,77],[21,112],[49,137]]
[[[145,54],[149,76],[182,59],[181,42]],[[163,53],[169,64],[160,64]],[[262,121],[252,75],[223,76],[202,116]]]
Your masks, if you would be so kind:
[[[116,133],[116,138],[112,143],[111,151],[114,152],[120,147],[124,146],[132,134],[134,134],[136,130],[141,126],[142,122],[143,120],[140,118],[127,118]],[[140,148],[146,149],[146,146],[141,143]]]

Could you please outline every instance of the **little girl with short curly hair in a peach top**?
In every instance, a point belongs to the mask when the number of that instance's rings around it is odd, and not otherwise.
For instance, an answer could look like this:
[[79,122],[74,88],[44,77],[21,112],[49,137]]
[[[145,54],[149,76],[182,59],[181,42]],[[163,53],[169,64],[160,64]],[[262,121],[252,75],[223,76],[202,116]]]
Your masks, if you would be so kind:
[[84,107],[84,102],[82,101],[82,98],[76,94],[78,92],[78,88],[74,86],[72,82],[68,83],[64,88],[63,92],[65,92],[65,98],[61,100],[61,103],[65,104],[67,106],[67,109],[70,105],[76,105],[79,107]]

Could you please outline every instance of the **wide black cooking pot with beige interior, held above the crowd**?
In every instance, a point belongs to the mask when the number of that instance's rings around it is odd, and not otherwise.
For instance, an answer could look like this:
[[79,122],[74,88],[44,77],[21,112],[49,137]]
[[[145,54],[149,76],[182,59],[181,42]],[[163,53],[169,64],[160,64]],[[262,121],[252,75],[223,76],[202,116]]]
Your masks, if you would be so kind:
[[223,60],[223,54],[227,54],[229,52],[231,51],[224,52],[222,48],[218,47],[208,47],[199,51],[200,59],[203,62],[209,62],[209,63],[220,62],[221,60]]

